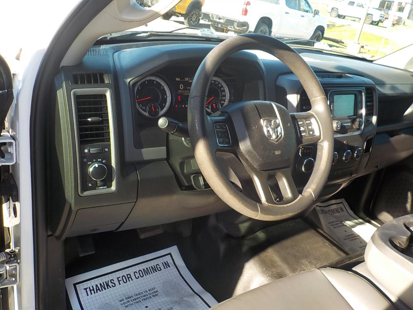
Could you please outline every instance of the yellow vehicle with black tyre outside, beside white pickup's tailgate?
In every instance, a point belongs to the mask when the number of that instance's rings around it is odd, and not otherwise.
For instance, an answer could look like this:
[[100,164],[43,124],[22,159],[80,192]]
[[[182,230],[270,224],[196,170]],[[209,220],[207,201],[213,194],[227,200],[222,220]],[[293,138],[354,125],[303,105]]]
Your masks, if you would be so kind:
[[201,21],[201,10],[205,0],[182,0],[172,10],[161,16],[162,19],[171,19],[172,16],[183,17],[185,26],[198,27]]

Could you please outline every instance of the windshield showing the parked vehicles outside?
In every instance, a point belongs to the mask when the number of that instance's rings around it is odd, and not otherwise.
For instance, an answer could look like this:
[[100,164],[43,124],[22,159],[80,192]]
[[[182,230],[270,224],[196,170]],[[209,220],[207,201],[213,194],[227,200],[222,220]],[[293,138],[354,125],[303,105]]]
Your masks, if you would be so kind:
[[[164,0],[135,1],[151,7]],[[101,40],[167,36],[159,32],[217,40],[263,33],[290,45],[375,60],[413,43],[413,10],[411,2],[390,0],[182,0],[145,26]]]

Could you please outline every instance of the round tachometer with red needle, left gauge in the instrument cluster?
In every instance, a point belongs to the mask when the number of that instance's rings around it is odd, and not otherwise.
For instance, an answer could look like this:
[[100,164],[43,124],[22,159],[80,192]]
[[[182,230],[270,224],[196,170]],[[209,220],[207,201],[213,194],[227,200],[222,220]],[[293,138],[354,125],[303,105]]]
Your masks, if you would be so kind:
[[171,105],[171,91],[157,76],[147,76],[136,83],[135,100],[138,111],[147,117],[165,114]]

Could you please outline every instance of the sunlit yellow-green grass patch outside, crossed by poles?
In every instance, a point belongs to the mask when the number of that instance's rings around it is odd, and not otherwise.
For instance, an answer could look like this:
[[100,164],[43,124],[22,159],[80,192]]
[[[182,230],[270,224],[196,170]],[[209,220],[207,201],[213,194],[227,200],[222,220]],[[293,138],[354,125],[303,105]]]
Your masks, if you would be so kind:
[[[339,44],[332,44],[330,41],[324,41],[325,43],[332,46],[333,49],[344,51],[346,50],[347,43],[353,42],[354,38],[356,37],[357,29],[348,26],[348,25],[336,25],[336,26],[328,26],[327,31],[325,32],[325,37],[328,38],[335,38],[344,41],[345,45]],[[365,45],[366,48],[361,48],[361,53],[365,53],[371,55],[373,57],[379,56],[378,52],[380,50],[380,46],[382,44],[383,37],[377,34],[362,32],[358,43],[361,45]],[[402,48],[402,45],[397,44],[396,42],[385,38],[383,46],[382,46],[382,53],[381,56],[385,54],[389,54],[390,52],[394,52]]]

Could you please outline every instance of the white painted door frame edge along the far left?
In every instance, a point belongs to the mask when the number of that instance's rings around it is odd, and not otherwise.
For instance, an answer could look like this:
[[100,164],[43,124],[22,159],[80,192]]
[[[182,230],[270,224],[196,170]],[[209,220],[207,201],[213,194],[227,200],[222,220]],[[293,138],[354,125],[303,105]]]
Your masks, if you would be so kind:
[[[33,54],[23,73],[17,90],[16,102],[7,116],[7,124],[12,129],[16,141],[17,160],[10,166],[10,172],[19,188],[20,225],[14,227],[17,233],[15,246],[20,248],[20,283],[18,284],[18,309],[35,309],[34,290],[34,250],[33,250],[33,215],[31,199],[31,165],[30,165],[30,112],[33,86],[40,61],[45,50]],[[14,85],[16,87],[16,85]],[[15,88],[16,89],[16,88]],[[20,238],[24,236],[24,238]],[[17,305],[14,304],[17,309]]]

